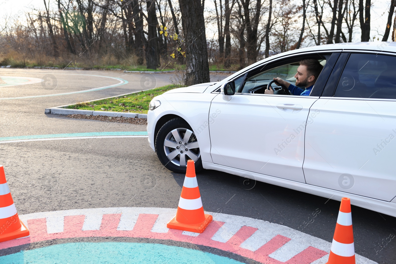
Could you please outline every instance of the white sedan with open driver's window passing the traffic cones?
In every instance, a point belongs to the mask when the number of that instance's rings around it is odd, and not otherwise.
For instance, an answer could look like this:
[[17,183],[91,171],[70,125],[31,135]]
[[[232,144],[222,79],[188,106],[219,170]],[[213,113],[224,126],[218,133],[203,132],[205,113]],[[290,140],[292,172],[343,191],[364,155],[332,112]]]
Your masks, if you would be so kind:
[[[301,59],[324,68],[309,96],[284,88]],[[274,87],[276,89],[276,87]],[[287,94],[287,95],[286,95]],[[396,42],[307,47],[221,82],[154,97],[148,142],[171,171],[213,169],[396,217]]]

